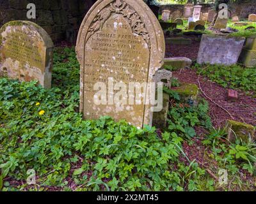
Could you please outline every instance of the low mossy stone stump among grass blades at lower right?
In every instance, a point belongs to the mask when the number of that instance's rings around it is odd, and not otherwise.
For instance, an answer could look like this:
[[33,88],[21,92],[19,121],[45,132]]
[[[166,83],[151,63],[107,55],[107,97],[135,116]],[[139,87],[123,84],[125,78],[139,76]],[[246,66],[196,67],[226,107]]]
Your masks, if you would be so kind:
[[227,138],[233,143],[236,142],[236,138],[243,140],[243,142],[248,142],[249,138],[252,138],[252,140],[255,138],[255,128],[243,122],[227,120],[226,129],[228,133]]

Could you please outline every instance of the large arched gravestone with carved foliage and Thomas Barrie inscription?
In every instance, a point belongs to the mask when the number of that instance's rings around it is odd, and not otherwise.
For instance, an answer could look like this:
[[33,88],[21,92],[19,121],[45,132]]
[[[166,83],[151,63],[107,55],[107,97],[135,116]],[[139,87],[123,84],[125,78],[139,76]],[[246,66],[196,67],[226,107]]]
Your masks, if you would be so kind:
[[[81,64],[80,110],[84,119],[109,115],[140,128],[151,124],[151,105],[109,105],[113,99],[109,79],[127,86],[129,82],[153,82],[163,66],[163,30],[147,4],[142,0],[97,1],[81,24],[76,52]],[[99,91],[93,89],[97,82],[106,84],[108,105],[93,101]]]

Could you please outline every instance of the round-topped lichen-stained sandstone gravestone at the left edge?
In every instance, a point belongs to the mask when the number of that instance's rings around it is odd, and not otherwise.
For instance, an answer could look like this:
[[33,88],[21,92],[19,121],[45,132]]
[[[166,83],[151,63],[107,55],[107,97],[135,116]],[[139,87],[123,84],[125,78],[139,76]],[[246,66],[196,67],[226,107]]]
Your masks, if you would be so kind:
[[29,21],[12,21],[0,29],[0,75],[37,80],[51,88],[52,48],[49,35]]

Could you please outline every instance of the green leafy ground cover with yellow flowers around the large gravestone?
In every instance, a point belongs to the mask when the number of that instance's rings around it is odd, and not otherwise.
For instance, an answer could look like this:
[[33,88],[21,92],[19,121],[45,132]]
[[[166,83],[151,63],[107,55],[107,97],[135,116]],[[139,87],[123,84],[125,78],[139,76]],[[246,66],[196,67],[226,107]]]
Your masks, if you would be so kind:
[[[189,106],[166,89],[163,130],[107,116],[83,120],[74,48],[55,50],[53,71],[50,90],[0,78],[3,191],[255,191],[255,143],[228,142],[212,128],[206,101]],[[26,184],[29,169],[36,185]],[[220,169],[228,172],[223,186]]]

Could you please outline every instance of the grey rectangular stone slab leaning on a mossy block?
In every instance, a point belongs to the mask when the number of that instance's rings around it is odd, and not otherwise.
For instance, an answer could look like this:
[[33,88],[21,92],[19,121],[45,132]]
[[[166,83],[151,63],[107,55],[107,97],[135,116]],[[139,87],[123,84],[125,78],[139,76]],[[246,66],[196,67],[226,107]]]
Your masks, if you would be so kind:
[[236,64],[245,38],[230,38],[203,34],[198,52],[198,64]]

